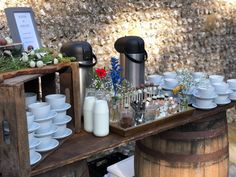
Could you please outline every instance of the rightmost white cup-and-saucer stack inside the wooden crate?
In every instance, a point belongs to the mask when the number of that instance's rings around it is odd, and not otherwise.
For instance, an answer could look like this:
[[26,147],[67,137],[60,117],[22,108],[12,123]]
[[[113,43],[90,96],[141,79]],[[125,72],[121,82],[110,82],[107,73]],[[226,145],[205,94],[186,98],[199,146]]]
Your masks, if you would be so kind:
[[66,111],[71,107],[66,103],[66,96],[63,94],[50,94],[45,97],[46,102],[51,105],[53,111],[57,115],[53,119],[53,124],[57,127],[57,131],[53,133],[53,138],[62,139],[72,134],[72,130],[67,128],[67,123],[71,121],[71,117],[66,115]]

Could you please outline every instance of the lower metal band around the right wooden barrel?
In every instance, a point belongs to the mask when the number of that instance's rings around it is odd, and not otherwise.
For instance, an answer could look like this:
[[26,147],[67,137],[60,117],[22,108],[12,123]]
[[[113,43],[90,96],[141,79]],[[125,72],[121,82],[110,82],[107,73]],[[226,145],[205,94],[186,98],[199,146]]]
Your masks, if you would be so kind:
[[209,161],[217,161],[222,157],[229,156],[229,148],[228,145],[216,152],[208,153],[208,154],[194,154],[194,155],[186,155],[186,154],[174,154],[174,153],[162,153],[157,150],[153,150],[149,147],[146,147],[140,142],[136,142],[136,147],[140,149],[147,155],[156,158],[157,160],[165,160],[167,162],[188,162],[188,163],[199,163],[199,162],[209,162]]

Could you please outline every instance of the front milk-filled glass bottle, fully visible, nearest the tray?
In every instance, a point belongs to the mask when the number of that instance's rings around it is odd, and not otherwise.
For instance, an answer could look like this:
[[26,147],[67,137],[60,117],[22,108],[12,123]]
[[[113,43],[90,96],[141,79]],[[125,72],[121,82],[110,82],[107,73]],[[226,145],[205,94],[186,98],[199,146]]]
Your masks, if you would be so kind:
[[98,91],[93,111],[93,133],[103,137],[109,134],[109,108],[105,93]]

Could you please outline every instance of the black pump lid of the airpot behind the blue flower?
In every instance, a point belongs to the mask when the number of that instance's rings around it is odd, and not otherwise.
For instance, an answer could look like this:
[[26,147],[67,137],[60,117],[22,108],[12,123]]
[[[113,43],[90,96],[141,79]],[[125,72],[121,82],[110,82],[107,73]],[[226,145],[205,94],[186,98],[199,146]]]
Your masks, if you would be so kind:
[[115,49],[120,53],[144,53],[144,40],[138,36],[125,36],[116,40]]

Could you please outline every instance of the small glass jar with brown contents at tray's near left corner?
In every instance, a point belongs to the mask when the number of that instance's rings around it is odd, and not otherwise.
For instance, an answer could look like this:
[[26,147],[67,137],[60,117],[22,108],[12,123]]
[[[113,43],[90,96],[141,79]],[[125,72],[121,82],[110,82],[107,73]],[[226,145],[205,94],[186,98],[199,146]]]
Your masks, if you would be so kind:
[[121,110],[119,125],[122,128],[134,126],[134,112],[132,109],[126,107]]

